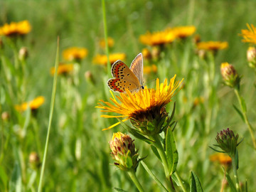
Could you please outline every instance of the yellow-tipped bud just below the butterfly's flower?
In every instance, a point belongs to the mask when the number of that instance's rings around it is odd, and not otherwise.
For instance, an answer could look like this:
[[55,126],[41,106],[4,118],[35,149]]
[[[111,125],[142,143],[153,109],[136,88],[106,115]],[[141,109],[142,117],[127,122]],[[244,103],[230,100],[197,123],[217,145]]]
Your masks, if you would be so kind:
[[114,133],[110,141],[114,165],[123,171],[136,170],[139,164],[139,154],[133,142],[134,140],[129,135],[121,132]]

